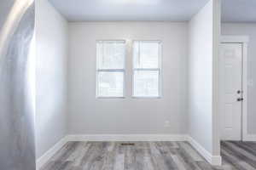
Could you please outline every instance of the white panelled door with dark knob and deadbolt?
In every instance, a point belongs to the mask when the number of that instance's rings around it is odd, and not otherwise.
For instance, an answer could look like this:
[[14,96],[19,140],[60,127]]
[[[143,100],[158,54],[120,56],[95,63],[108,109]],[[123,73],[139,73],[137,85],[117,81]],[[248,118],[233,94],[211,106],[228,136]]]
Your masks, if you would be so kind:
[[221,139],[241,140],[242,44],[221,43],[219,57]]

